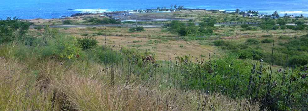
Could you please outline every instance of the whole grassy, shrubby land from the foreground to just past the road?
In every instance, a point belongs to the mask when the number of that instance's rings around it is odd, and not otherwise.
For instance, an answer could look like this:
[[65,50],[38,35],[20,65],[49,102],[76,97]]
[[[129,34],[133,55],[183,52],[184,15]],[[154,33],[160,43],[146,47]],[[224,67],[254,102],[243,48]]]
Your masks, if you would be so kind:
[[175,14],[204,27],[37,30],[0,21],[0,110],[307,110],[306,27],[215,27],[213,19],[265,20]]

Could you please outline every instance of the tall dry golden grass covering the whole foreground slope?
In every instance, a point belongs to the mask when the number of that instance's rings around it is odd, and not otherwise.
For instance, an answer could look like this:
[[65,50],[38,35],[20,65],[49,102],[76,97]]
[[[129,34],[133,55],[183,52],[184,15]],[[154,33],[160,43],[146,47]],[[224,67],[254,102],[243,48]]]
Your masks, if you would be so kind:
[[[107,74],[86,73],[84,63],[55,62],[38,64],[33,74],[14,60],[0,59],[0,109],[10,110],[248,110],[247,101],[229,99],[220,94],[183,92],[173,87],[161,87],[159,80],[152,83],[129,82],[127,73],[116,71],[111,84],[111,69]],[[94,72],[101,65],[94,63]],[[117,68],[116,68],[117,69]],[[82,73],[85,72],[85,73]],[[133,74],[135,75],[135,74]],[[133,77],[132,77],[133,78]],[[157,78],[161,79],[161,78]],[[151,85],[150,85],[151,84]],[[204,102],[206,101],[206,102]],[[241,105],[240,105],[241,104]],[[259,105],[253,103],[250,110]]]

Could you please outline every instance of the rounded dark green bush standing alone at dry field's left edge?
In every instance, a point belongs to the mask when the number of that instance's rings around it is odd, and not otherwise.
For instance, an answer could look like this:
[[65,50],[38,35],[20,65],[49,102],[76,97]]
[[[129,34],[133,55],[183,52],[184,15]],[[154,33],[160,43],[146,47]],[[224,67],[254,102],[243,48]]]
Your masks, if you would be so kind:
[[77,38],[79,46],[86,50],[97,47],[98,41],[94,37]]

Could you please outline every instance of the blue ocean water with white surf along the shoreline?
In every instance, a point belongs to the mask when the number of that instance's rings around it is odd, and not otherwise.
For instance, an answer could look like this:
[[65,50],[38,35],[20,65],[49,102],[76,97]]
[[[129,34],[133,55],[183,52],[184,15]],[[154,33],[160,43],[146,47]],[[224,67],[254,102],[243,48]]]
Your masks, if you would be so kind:
[[110,12],[134,9],[170,8],[171,4],[184,8],[241,11],[254,10],[262,14],[277,11],[280,15],[308,17],[308,0],[2,0],[0,19],[17,16],[20,19],[61,18],[82,12]]

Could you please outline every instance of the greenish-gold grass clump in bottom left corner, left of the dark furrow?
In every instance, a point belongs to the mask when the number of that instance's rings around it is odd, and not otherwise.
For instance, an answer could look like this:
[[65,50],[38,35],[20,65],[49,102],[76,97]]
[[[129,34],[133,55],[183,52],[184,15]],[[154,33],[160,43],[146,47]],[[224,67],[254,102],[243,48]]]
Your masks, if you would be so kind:
[[15,60],[0,58],[0,110],[52,111],[61,108],[52,90],[41,88],[36,75]]

